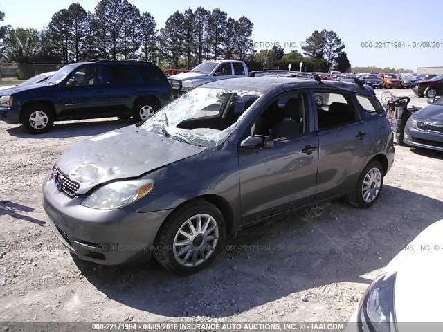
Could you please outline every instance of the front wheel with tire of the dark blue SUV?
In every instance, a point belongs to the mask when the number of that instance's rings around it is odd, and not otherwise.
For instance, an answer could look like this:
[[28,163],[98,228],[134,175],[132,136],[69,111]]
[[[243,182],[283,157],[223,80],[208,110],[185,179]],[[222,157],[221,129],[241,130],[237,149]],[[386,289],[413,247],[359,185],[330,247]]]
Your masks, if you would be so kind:
[[20,120],[30,133],[47,133],[53,127],[54,113],[44,104],[31,104],[21,112]]

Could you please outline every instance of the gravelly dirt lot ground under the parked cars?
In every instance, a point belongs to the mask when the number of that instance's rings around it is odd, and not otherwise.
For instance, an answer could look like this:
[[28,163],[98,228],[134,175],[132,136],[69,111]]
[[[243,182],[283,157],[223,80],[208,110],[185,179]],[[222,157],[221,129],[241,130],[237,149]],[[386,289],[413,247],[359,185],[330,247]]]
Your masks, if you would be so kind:
[[73,260],[46,222],[42,179],[75,142],[130,123],[30,136],[0,122],[0,322],[346,322],[381,268],[443,218],[443,153],[397,147],[369,210],[339,200],[249,228],[197,275]]

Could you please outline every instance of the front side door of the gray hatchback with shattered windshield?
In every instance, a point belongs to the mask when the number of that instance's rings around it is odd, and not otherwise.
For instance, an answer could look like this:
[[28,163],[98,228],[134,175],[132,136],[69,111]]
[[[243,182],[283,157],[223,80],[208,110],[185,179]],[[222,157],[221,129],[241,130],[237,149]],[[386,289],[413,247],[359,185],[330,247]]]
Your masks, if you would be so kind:
[[265,136],[271,139],[272,147],[251,149],[244,146],[245,140],[239,143],[243,223],[314,202],[318,138],[310,127],[313,120],[309,103],[306,91],[278,96],[264,107],[244,135]]

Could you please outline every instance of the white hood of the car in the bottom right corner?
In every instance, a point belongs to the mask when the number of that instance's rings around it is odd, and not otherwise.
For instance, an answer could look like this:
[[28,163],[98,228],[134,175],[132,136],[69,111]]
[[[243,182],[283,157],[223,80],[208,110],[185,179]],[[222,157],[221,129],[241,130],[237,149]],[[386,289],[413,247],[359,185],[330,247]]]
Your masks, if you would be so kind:
[[397,272],[397,322],[443,322],[442,235],[443,219],[428,226],[386,266],[388,275]]

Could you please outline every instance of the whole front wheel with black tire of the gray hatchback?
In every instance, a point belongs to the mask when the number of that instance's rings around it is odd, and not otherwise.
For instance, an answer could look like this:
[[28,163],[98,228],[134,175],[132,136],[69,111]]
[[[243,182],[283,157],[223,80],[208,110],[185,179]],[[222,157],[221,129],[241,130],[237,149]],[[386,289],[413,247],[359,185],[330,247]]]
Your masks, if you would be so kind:
[[225,223],[220,210],[197,199],[178,208],[156,235],[154,257],[179,275],[205,268],[223,248]]

